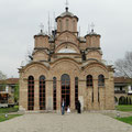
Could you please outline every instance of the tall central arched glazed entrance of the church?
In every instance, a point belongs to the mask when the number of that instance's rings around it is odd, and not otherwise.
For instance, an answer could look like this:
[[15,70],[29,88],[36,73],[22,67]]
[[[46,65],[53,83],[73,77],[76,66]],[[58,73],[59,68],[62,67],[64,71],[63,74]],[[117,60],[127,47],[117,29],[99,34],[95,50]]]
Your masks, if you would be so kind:
[[61,87],[62,87],[62,100],[65,101],[65,108],[67,109],[70,106],[70,78],[67,74],[62,75],[61,78]]

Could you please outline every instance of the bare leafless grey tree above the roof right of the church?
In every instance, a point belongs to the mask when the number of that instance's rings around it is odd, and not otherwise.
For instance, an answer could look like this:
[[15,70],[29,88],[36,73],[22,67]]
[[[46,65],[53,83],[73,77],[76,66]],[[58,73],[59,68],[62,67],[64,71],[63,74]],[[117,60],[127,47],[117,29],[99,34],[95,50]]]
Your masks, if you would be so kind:
[[124,58],[114,63],[116,75],[132,78],[132,52],[127,52]]

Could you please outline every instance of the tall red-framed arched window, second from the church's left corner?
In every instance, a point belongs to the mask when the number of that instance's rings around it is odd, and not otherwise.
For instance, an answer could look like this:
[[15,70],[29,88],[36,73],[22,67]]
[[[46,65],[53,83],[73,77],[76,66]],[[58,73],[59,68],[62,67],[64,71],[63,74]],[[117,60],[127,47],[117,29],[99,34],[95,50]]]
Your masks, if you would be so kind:
[[46,91],[45,91],[45,76],[40,77],[40,110],[45,110]]

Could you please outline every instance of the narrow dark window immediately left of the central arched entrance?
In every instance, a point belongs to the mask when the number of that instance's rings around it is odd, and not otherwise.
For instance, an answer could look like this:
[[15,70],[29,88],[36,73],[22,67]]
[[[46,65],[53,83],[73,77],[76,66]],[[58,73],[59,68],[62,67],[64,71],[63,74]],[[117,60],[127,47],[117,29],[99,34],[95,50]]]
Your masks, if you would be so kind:
[[53,77],[53,109],[56,110],[56,77]]

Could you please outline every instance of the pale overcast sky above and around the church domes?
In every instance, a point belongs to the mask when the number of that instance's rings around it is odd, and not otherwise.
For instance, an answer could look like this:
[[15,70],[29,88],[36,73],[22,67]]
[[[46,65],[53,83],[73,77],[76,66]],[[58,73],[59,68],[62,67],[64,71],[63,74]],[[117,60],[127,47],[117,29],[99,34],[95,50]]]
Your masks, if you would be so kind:
[[[28,51],[34,46],[33,36],[40,23],[47,31],[48,12],[52,23],[65,11],[66,0],[0,0],[0,70],[8,77],[19,77],[18,68]],[[69,11],[79,18],[80,34],[88,24],[101,35],[103,59],[114,62],[132,51],[132,0],[68,0]]]

